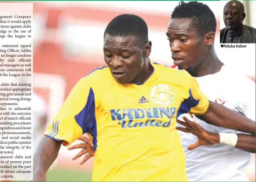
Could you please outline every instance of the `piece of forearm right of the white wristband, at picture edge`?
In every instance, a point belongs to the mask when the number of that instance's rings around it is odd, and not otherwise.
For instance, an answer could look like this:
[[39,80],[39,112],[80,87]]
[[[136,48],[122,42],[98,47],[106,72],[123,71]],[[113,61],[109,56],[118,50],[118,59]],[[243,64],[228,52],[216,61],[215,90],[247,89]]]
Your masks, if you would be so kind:
[[235,148],[255,153],[255,136],[238,134],[238,142]]

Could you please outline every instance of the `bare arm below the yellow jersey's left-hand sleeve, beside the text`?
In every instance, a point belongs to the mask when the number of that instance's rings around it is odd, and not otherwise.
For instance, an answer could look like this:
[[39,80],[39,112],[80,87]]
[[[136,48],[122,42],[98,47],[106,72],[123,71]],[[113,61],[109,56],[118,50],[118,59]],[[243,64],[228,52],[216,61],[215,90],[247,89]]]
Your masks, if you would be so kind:
[[41,140],[33,162],[33,181],[45,181],[45,175],[57,158],[61,142],[44,136]]

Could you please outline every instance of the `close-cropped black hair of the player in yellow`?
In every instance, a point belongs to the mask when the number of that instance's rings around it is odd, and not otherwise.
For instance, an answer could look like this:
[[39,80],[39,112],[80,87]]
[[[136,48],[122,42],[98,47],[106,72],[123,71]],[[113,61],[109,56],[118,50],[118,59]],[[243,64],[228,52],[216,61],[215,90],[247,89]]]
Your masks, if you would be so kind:
[[143,43],[148,41],[148,28],[146,22],[137,15],[123,14],[111,20],[107,25],[105,35],[110,36],[138,36]]

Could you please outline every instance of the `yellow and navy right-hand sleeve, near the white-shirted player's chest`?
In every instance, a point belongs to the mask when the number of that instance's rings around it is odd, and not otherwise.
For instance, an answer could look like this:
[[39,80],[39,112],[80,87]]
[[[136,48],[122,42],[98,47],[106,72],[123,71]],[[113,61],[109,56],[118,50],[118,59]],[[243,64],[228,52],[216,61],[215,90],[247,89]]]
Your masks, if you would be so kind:
[[189,75],[187,77],[187,81],[190,83],[188,84],[189,87],[186,87],[188,97],[185,98],[181,103],[177,113],[177,118],[184,113],[202,115],[207,111],[209,106],[208,97],[201,92],[201,90],[199,89],[199,84],[197,83],[196,79]]

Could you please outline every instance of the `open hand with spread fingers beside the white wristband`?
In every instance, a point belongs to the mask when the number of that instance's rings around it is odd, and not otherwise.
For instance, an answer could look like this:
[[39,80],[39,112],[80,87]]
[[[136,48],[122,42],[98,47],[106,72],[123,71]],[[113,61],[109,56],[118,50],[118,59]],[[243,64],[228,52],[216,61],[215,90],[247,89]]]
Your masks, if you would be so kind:
[[185,116],[183,117],[183,120],[185,122],[177,120],[177,123],[181,124],[184,127],[176,127],[176,129],[179,131],[184,131],[186,133],[192,133],[193,135],[196,135],[198,138],[198,141],[188,146],[187,149],[192,150],[196,149],[199,146],[210,146],[219,143],[218,133],[206,131],[195,121],[190,121]]

